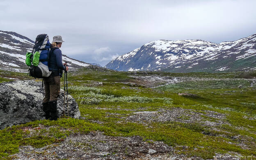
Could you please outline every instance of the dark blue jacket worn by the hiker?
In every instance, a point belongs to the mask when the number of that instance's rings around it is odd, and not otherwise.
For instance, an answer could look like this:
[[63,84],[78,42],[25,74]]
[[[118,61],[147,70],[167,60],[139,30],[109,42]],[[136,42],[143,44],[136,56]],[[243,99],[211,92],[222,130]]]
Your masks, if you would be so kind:
[[62,70],[66,71],[66,67],[62,64],[62,51],[59,48],[52,48],[50,50],[49,56],[49,71],[53,71],[55,73],[58,72],[59,75],[62,75]]

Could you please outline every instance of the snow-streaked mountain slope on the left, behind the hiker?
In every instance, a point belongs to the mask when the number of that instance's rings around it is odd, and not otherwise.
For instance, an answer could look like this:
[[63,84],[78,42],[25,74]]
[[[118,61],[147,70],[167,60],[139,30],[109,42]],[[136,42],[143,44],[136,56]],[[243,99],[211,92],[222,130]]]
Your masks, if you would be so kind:
[[[36,36],[37,35],[35,35],[35,37]],[[28,68],[25,64],[26,53],[31,52],[33,46],[34,41],[22,36],[21,34],[0,30],[0,68]],[[62,55],[62,61],[63,63],[68,62],[71,69],[78,69],[83,66],[90,65],[85,62],[69,58],[66,55]]]

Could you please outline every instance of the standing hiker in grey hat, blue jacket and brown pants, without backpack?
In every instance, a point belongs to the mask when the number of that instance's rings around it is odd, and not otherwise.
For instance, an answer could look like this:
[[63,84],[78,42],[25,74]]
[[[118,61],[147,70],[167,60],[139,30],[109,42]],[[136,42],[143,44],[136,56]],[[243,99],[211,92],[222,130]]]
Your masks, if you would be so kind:
[[62,46],[61,36],[54,36],[49,53],[48,69],[52,71],[49,77],[43,78],[45,97],[43,98],[43,112],[46,119],[57,120],[59,113],[57,111],[57,98],[60,93],[60,78],[63,70],[68,71],[66,63],[62,64]]

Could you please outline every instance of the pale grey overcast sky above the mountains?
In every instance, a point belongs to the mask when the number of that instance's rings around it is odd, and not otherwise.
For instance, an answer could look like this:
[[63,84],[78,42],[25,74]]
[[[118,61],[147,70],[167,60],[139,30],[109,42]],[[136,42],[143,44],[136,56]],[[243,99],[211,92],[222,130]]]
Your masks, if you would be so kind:
[[159,39],[234,41],[256,33],[256,0],[0,0],[0,30],[61,35],[62,53],[105,66]]

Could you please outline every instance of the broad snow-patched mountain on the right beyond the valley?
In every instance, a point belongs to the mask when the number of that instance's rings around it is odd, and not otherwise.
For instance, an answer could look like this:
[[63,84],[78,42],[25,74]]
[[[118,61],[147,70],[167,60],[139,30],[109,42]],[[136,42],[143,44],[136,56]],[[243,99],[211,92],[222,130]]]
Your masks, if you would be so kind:
[[256,69],[256,34],[238,41],[158,40],[106,66],[117,71],[215,72]]

